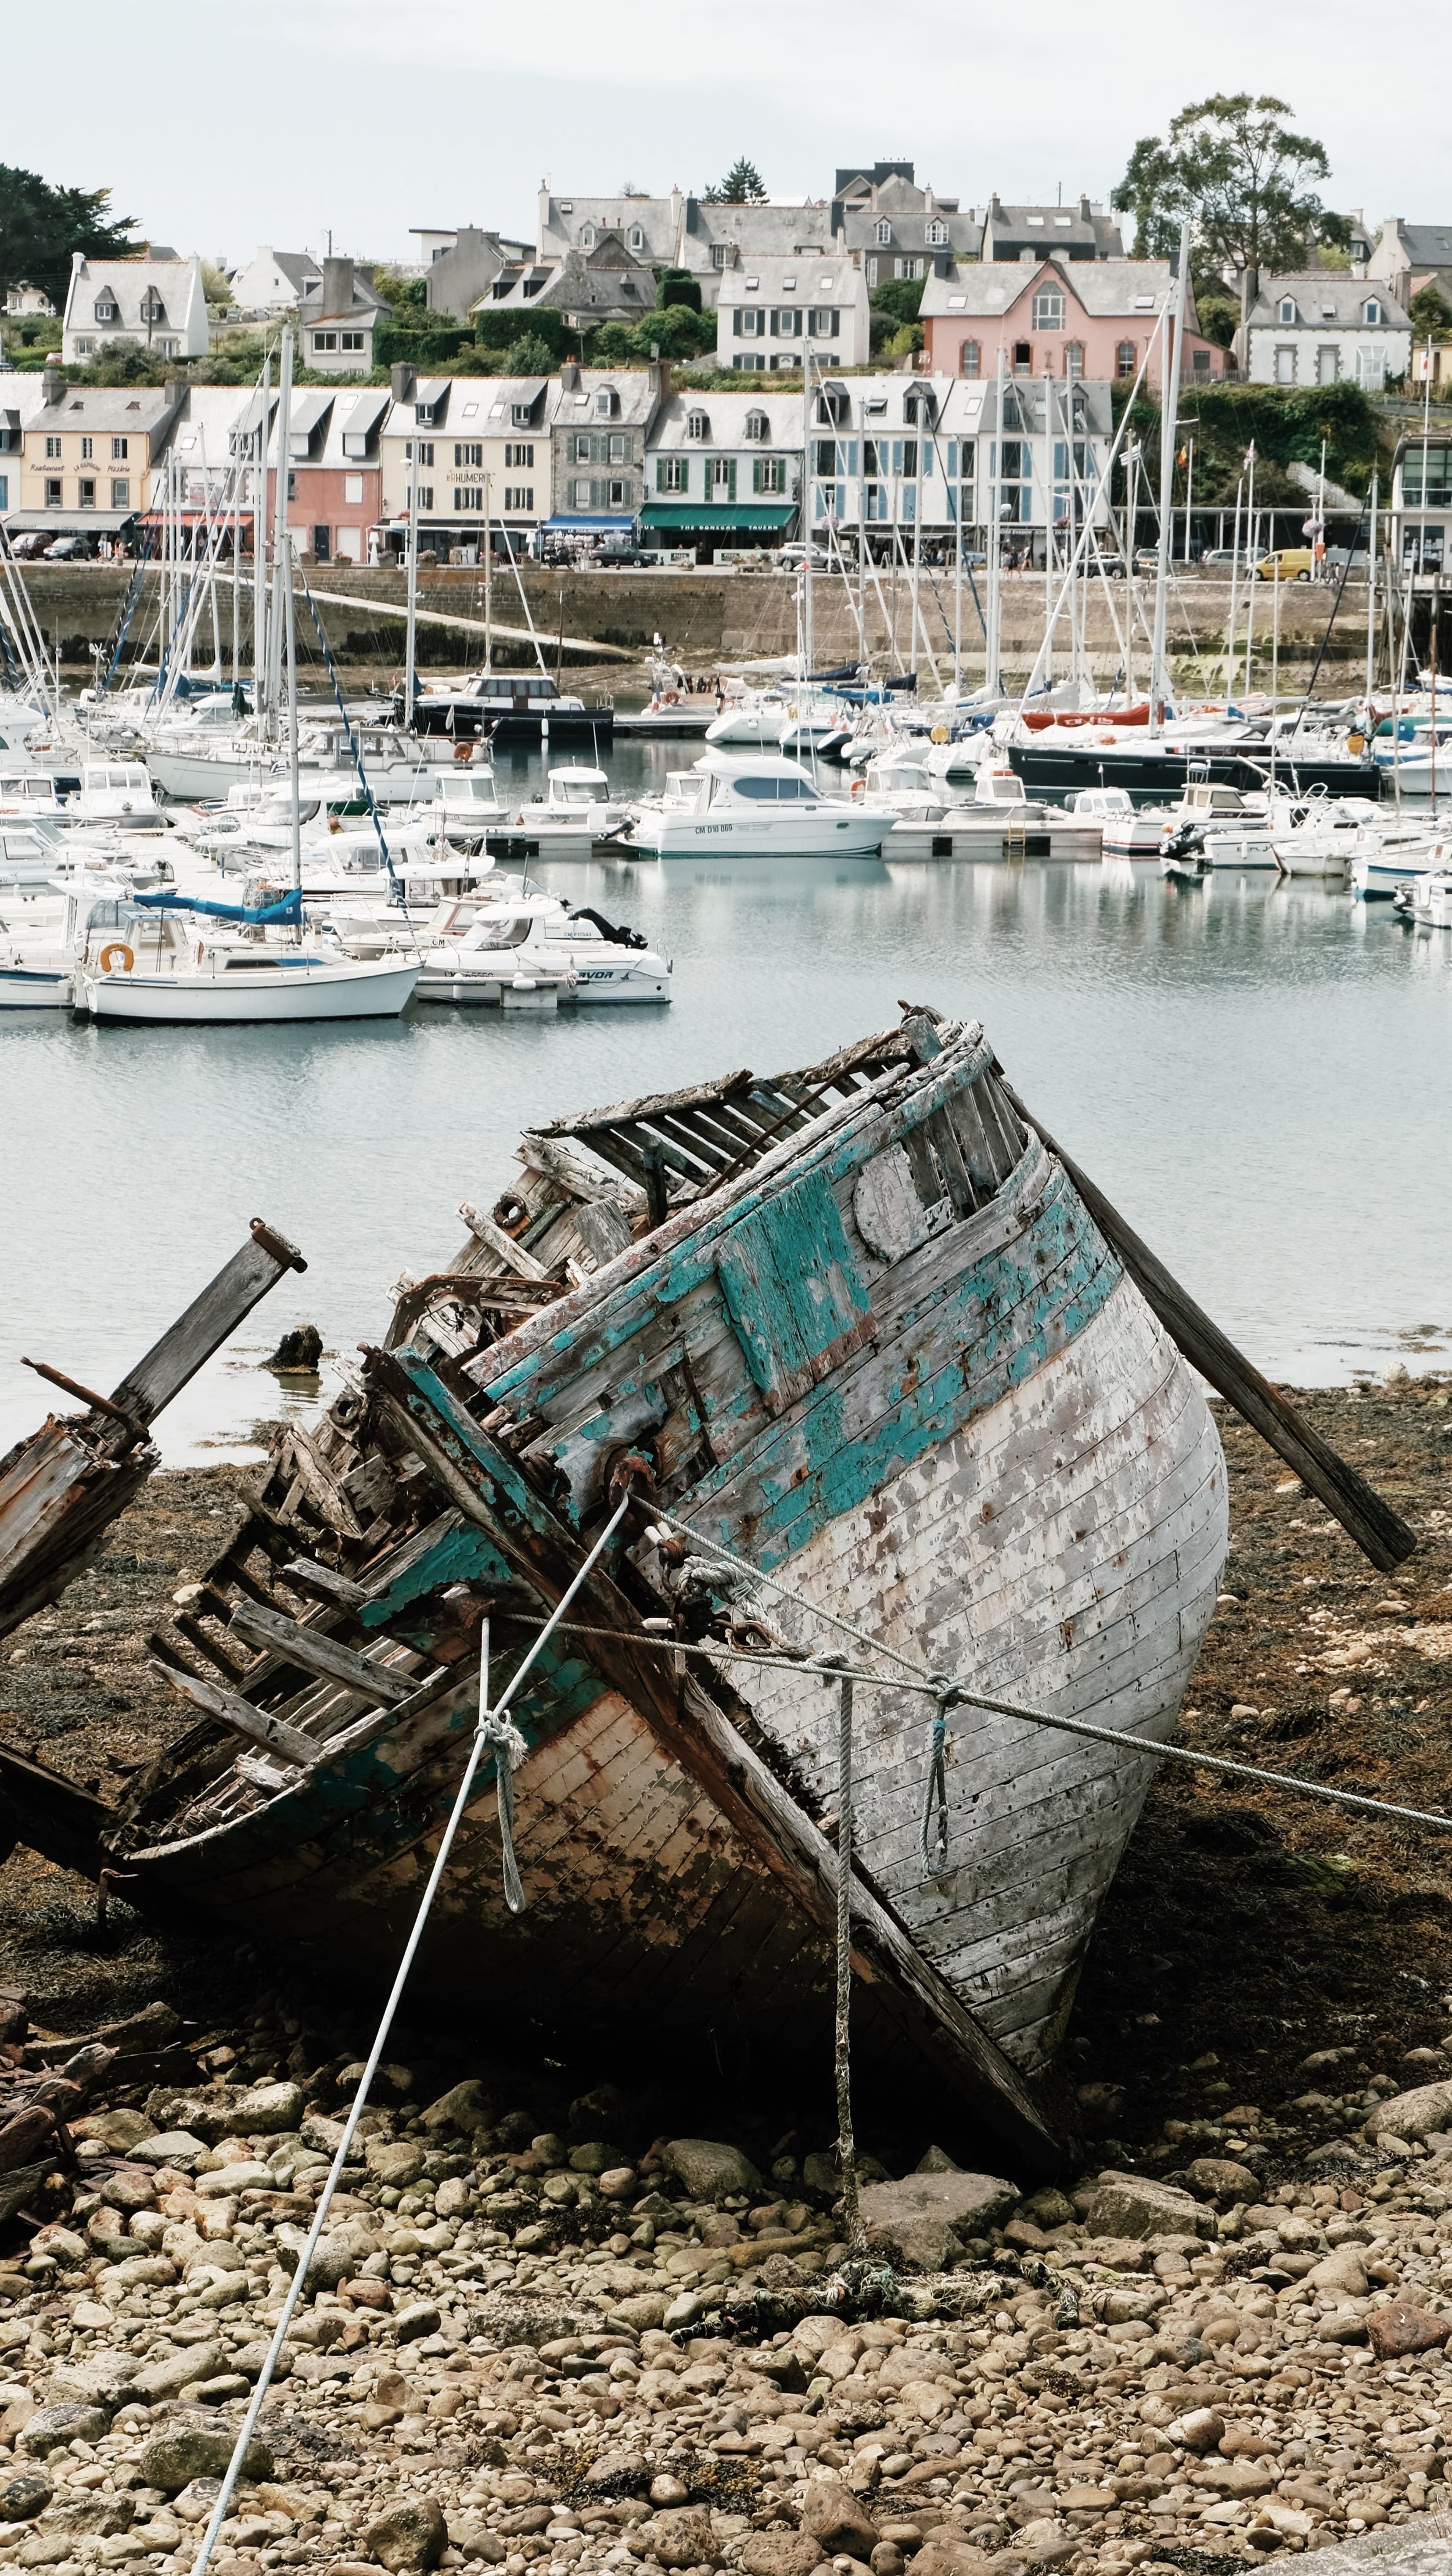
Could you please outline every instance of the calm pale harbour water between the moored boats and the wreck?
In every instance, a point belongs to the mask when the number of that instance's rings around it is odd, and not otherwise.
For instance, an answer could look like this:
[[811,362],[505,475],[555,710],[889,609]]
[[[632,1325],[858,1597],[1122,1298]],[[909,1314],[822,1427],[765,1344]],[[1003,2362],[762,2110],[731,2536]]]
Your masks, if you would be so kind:
[[[626,747],[631,791],[698,744]],[[525,804],[538,760],[505,755]],[[1452,935],[1316,881],[1153,866],[546,863],[644,930],[675,999],[317,1028],[5,1015],[0,1448],[46,1409],[21,1355],[111,1388],[265,1216],[306,1255],[160,1422],[170,1463],[255,1453],[317,1381],[260,1363],[317,1321],[381,1337],[448,1265],[528,1123],[736,1066],[811,1064],[898,999],[981,1018],[1045,1118],[1272,1376],[1452,1365]],[[322,1394],[332,1388],[324,1360]]]

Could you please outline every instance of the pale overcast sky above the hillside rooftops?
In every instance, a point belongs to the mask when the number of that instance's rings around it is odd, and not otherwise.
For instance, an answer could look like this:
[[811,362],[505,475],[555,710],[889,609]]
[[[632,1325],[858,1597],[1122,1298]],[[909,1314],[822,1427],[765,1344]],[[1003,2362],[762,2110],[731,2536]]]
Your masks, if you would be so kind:
[[409,227],[533,237],[541,180],[700,191],[747,152],[777,196],[911,157],[965,206],[1104,198],[1140,134],[1269,90],[1331,155],[1328,204],[1452,222],[1452,10],[1364,0],[70,0],[8,10],[0,160],[178,250],[407,258]]

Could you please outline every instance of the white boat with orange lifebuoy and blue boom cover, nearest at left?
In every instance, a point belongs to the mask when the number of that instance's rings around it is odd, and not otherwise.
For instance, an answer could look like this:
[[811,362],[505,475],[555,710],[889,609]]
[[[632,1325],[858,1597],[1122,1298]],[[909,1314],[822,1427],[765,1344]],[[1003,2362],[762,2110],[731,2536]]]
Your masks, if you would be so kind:
[[[278,935],[268,935],[273,930]],[[90,907],[75,1007],[93,1020],[149,1025],[396,1020],[417,976],[414,953],[348,958],[337,943],[283,922],[219,925],[206,914],[144,909],[121,896]]]

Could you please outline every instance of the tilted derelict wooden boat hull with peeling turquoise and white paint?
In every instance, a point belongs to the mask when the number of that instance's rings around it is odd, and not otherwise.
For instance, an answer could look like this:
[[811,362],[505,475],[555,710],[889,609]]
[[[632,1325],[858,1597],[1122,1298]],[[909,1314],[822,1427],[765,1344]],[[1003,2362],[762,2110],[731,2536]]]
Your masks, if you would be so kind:
[[391,1965],[476,1726],[481,1623],[512,1672],[631,1492],[510,1710],[523,1911],[489,1770],[425,1984],[494,2020],[826,2048],[839,1685],[726,1651],[819,1649],[821,1605],[1125,1736],[958,1708],[924,1865],[932,1700],[857,1700],[855,2048],[927,2056],[1050,2169],[1045,2071],[1153,1772],[1135,1747],[1174,1728],[1225,1556],[1200,1381],[1089,1188],[981,1028],[927,1010],[803,1072],[525,1133],[517,1185],[461,1211],[448,1270],[399,1283],[384,1347],[281,1440],[178,1613],[167,1672],[201,1723],[90,1824],[0,1759],[18,1832],[142,1906]]

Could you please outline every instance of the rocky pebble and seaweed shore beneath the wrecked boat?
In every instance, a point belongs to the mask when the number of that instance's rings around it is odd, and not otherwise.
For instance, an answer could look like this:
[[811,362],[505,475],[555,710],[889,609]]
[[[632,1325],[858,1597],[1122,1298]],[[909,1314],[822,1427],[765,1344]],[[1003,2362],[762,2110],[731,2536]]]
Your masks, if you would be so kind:
[[[1424,1546],[1372,1577],[1231,1437],[1184,1734],[1449,1806],[1447,1391],[1316,1401]],[[234,1510],[227,1471],[154,1481],[21,1633],[15,1741],[106,1785],[180,1731],[144,1636]],[[33,1855],[0,1906],[0,2076],[85,2089],[0,2228],[0,2563],[183,2576],[368,2012],[286,1927],[98,1924]],[[1439,2514],[1449,1922],[1437,1837],[1166,1777],[1068,2025],[1074,2169],[1035,2190],[950,2102],[865,2102],[857,2244],[829,2032],[796,2087],[687,2099],[649,2050],[507,2053],[487,1999],[409,1999],[214,2566],[1205,2576]]]

